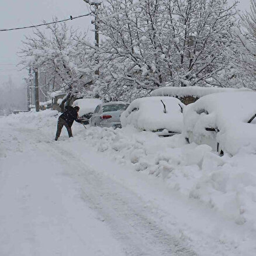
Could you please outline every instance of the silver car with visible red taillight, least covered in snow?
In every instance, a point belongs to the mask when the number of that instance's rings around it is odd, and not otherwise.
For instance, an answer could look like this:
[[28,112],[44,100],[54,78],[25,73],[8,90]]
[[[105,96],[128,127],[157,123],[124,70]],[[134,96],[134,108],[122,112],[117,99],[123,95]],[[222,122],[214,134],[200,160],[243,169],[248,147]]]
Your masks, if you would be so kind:
[[129,103],[114,101],[99,104],[89,119],[91,126],[121,128],[120,115],[127,109]]

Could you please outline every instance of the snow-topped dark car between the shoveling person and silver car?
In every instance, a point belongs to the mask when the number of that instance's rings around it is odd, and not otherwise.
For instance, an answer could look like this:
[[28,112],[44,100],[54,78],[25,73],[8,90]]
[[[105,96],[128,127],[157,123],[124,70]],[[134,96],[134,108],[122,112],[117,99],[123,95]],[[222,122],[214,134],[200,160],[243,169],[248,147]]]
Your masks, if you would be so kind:
[[81,119],[82,123],[88,124],[89,119],[94,113],[96,106],[101,104],[101,99],[94,99],[94,98],[85,98],[85,99],[77,99],[74,101],[72,106],[79,106],[78,116]]

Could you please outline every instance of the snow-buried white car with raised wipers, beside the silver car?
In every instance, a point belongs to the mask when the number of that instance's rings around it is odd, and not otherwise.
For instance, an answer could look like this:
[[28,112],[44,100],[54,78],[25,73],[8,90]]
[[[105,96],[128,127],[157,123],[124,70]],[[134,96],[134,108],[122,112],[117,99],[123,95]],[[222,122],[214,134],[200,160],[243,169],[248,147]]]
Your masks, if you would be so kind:
[[159,136],[179,134],[183,127],[184,104],[168,96],[135,99],[122,113],[122,126],[156,132]]

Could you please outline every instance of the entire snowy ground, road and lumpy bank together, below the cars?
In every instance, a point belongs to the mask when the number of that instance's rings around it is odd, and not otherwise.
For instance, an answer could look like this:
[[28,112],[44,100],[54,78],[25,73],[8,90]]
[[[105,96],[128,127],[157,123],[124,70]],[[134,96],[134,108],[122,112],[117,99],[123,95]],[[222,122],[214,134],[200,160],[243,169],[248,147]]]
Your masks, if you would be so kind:
[[256,154],[0,117],[0,255],[256,255]]

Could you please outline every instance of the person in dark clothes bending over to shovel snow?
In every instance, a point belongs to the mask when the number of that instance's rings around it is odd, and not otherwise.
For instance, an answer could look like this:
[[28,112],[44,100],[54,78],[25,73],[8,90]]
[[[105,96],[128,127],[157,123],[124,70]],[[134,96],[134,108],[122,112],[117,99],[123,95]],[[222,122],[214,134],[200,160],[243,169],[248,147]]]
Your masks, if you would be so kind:
[[55,140],[58,140],[58,137],[60,137],[61,129],[63,126],[67,128],[68,131],[68,137],[73,137],[71,126],[74,121],[81,123],[81,120],[78,119],[78,111],[79,106],[75,106],[74,108],[72,106],[67,106],[64,113],[58,117],[58,124],[57,124],[57,132]]

